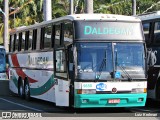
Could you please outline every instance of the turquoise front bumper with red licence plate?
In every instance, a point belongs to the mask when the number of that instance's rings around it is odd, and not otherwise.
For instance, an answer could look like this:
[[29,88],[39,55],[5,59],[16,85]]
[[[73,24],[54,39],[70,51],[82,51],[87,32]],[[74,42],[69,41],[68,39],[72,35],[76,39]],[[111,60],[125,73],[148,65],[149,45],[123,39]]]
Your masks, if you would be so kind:
[[145,106],[146,93],[139,94],[76,94],[75,108]]

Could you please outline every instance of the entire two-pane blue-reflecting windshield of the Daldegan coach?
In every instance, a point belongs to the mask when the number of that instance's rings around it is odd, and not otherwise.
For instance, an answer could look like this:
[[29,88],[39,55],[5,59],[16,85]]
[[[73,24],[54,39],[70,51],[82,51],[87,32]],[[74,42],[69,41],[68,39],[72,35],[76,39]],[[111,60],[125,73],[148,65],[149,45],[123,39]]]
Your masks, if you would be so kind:
[[119,78],[145,78],[143,44],[77,43],[78,79],[111,79],[114,65]]

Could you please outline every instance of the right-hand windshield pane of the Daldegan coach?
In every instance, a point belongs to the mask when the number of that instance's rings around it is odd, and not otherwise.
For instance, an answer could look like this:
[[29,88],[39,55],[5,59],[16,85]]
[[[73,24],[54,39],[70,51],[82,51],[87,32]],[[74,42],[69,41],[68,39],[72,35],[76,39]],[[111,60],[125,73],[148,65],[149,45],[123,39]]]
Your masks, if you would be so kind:
[[114,43],[117,78],[145,78],[144,46],[140,43]]

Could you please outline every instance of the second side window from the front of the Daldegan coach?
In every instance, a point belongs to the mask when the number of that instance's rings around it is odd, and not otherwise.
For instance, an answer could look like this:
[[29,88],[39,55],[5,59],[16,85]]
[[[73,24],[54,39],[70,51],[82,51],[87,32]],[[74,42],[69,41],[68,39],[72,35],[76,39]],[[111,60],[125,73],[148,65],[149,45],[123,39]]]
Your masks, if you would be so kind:
[[55,26],[55,46],[60,46],[60,25]]

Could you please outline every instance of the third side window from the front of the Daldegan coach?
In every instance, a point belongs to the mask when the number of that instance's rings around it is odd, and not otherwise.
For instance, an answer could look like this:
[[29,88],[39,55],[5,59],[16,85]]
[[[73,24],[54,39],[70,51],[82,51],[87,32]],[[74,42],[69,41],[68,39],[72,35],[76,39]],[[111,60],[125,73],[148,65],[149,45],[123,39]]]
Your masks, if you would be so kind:
[[51,33],[52,33],[52,26],[45,27],[45,34],[44,34],[44,48],[51,47]]

